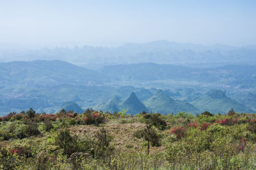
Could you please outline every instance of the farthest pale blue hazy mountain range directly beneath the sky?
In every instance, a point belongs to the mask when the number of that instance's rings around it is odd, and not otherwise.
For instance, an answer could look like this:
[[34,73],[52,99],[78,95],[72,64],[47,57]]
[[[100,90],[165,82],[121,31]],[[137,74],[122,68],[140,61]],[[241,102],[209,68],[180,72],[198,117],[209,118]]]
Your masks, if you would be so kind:
[[[35,59],[60,59],[70,63],[95,68],[97,65],[124,63],[209,63],[255,62],[256,49],[253,45],[231,47],[228,45],[198,45],[159,40],[148,43],[127,43],[116,48],[106,47],[56,47],[55,49],[0,51],[1,61]],[[92,65],[93,64],[93,65]]]

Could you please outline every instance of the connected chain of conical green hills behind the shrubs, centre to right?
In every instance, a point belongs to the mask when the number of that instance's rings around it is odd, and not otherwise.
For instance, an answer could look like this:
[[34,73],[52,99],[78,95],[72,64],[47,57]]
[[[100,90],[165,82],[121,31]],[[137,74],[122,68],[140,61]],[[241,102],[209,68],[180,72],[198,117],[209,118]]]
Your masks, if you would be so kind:
[[173,100],[167,93],[159,89],[156,94],[148,98],[144,104],[138,100],[136,94],[132,92],[124,102],[116,103],[111,99],[105,104],[97,105],[94,109],[104,112],[118,112],[122,109],[126,109],[129,114],[137,114],[141,111],[160,112],[162,114],[169,114],[171,112],[174,114],[177,112],[191,112],[196,114],[210,111],[212,113],[221,112],[223,114],[227,113],[230,109],[234,109],[236,112],[252,112],[252,109],[227,97],[221,90],[209,91],[206,97],[198,98],[189,104],[180,100]]

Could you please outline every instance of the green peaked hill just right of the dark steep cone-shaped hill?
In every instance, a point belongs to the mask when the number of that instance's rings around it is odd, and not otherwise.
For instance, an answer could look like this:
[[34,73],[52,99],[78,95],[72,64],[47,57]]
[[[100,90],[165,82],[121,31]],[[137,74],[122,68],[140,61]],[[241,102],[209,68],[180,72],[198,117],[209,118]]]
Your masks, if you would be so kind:
[[198,110],[191,104],[181,102],[179,100],[173,100],[169,95],[159,89],[157,93],[149,98],[145,105],[152,109],[153,112],[160,112],[163,114],[169,114],[171,112],[177,113],[179,111],[196,113]]

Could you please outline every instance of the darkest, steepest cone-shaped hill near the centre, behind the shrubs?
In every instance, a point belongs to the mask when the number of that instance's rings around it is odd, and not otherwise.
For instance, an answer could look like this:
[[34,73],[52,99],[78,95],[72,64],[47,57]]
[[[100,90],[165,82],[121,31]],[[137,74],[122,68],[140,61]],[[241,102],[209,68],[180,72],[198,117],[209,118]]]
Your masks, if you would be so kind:
[[148,111],[147,107],[140,102],[134,92],[120,104],[120,108],[127,109],[127,113],[138,114],[141,111]]

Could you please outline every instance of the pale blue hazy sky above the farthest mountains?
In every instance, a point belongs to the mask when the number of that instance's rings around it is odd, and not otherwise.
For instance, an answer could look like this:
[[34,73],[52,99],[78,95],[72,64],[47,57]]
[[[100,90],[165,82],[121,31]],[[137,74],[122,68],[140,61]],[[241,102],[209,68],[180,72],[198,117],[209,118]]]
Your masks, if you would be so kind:
[[255,0],[0,0],[0,44],[256,44]]

